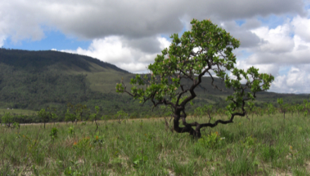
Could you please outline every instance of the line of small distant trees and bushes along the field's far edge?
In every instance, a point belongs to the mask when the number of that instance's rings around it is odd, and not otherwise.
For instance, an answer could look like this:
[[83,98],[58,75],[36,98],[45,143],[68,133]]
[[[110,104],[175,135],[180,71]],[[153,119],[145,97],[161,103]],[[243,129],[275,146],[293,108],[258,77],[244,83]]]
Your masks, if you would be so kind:
[[[203,105],[204,104],[204,105]],[[194,101],[194,105],[189,105],[187,108],[187,115],[192,115],[195,118],[202,116],[208,116],[213,118],[216,115],[225,118],[227,111],[222,105],[223,103],[206,103],[203,101]],[[149,104],[150,105],[150,104]],[[139,106],[138,106],[139,107]],[[147,111],[148,108],[149,111]],[[117,120],[120,118],[118,114],[119,111],[114,109],[113,111],[106,111],[104,106],[98,106],[97,111],[95,111],[94,106],[86,106],[80,103],[75,105],[68,103],[64,108],[66,111],[61,111],[56,108],[42,108],[41,112],[34,113],[32,115],[16,115],[14,113],[4,113],[1,115],[1,123],[6,124],[8,127],[16,127],[15,124],[23,123],[39,123],[39,122],[77,122],[77,121],[94,121],[94,120]],[[134,111],[130,108],[123,108],[125,115],[122,115],[123,119],[136,119],[136,118],[151,118],[151,117],[170,117],[171,111],[167,106],[159,106],[154,108],[154,111],[150,111],[150,106],[140,106]],[[240,110],[237,110],[240,111]],[[283,99],[278,99],[276,104],[273,103],[249,103],[246,106],[246,117],[256,115],[268,115],[272,117],[275,113],[283,113],[285,118],[285,113],[296,114],[298,117],[309,116],[310,115],[310,101],[303,100],[303,103],[289,104],[283,102]],[[44,114],[42,113],[44,112]],[[96,113],[96,118],[94,118],[94,113]],[[43,114],[43,115],[42,115]]]

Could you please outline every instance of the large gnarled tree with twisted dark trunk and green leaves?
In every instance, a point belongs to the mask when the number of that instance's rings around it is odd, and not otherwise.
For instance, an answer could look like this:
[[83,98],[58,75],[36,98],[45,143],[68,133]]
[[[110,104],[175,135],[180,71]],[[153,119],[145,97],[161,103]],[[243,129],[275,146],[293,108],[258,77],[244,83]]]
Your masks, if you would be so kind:
[[[151,74],[132,78],[131,91],[126,89],[122,79],[116,84],[116,92],[125,92],[134,99],[140,99],[140,102],[151,101],[154,107],[170,106],[175,132],[188,132],[199,138],[203,127],[228,124],[233,122],[236,115],[244,116],[245,102],[254,101],[256,92],[269,89],[274,77],[266,73],[259,74],[259,69],[254,67],[245,71],[235,68],[236,57],[232,51],[240,46],[240,41],[210,20],[194,19],[191,24],[192,31],[184,32],[182,37],[178,37],[178,34],[171,35],[172,43],[169,49],[163,49],[161,54],[156,56],[155,62],[148,66]],[[214,82],[213,74],[234,91],[233,95],[226,99],[230,102],[226,107],[230,113],[229,120],[187,122],[185,106],[197,97],[195,89],[201,86],[203,76],[209,75],[211,85],[220,89]],[[242,79],[246,81],[245,84],[241,84]],[[189,83],[185,85],[185,81]],[[180,121],[183,127],[180,126]]]

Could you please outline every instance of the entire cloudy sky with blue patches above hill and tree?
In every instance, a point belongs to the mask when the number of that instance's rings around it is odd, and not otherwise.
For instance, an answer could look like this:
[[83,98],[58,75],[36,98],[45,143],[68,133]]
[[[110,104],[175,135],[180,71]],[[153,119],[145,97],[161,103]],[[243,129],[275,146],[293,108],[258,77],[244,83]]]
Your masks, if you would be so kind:
[[82,54],[147,73],[192,18],[240,39],[236,67],[274,75],[271,92],[310,93],[310,0],[1,0],[0,47]]

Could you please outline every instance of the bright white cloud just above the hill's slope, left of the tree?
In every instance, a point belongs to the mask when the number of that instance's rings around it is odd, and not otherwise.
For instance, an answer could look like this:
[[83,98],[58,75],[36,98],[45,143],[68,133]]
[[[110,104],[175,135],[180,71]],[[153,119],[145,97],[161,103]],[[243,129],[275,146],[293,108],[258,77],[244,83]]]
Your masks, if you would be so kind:
[[[170,45],[164,37],[156,38],[160,49]],[[132,73],[146,73],[147,65],[154,62],[157,54],[149,54],[137,48],[126,46],[124,37],[111,36],[103,39],[94,39],[88,49],[63,50],[63,52],[82,54],[98,58],[101,61],[115,64],[119,68]]]

